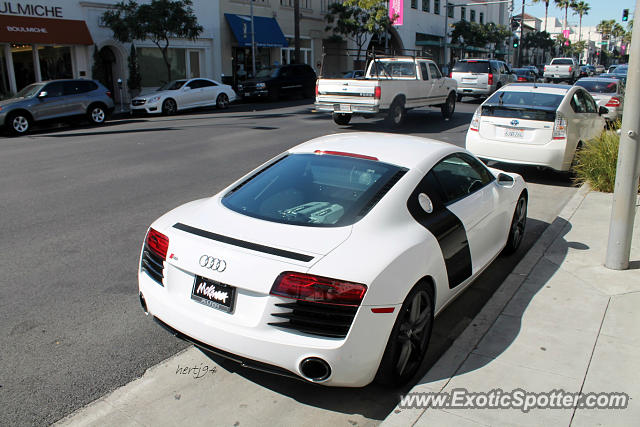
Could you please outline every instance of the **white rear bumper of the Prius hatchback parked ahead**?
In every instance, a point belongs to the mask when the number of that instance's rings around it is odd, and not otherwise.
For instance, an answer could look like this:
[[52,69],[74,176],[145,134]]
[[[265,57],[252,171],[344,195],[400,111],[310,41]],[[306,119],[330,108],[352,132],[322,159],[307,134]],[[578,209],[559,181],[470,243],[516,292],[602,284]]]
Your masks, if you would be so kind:
[[575,146],[568,145],[566,140],[551,140],[541,145],[518,144],[488,140],[475,131],[467,131],[466,148],[483,159],[558,171],[569,170],[575,154]]

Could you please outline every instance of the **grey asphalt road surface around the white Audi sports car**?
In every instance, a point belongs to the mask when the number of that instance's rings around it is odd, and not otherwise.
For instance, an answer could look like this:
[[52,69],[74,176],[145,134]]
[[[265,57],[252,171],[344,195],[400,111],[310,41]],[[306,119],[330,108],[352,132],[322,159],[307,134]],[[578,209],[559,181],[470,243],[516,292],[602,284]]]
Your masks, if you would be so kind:
[[[478,104],[459,103],[446,122],[439,111],[414,111],[400,132],[463,146]],[[245,104],[0,138],[0,425],[52,423],[187,346],[138,303],[138,253],[155,218],[312,137],[387,131],[381,120],[361,118],[338,128],[311,107],[303,100]],[[530,184],[523,247],[495,262],[438,318],[424,370],[575,191],[562,175],[512,170]],[[397,390],[375,385],[328,390],[229,369],[249,379],[243,387],[344,414],[344,424],[350,414],[375,424],[397,403]]]

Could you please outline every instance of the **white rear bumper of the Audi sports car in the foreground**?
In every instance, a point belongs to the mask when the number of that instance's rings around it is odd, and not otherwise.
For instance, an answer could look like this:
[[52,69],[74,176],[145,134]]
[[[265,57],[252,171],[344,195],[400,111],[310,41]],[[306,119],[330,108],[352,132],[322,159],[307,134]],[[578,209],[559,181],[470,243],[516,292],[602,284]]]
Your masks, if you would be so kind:
[[398,313],[396,309],[374,314],[361,306],[346,338],[325,338],[267,325],[270,302],[256,324],[239,325],[225,321],[232,315],[191,301],[190,288],[175,289],[170,282],[161,286],[142,271],[138,283],[149,314],[173,334],[247,367],[279,375],[302,378],[300,362],[318,357],[331,367],[331,375],[321,383],[331,386],[362,387],[374,379]]

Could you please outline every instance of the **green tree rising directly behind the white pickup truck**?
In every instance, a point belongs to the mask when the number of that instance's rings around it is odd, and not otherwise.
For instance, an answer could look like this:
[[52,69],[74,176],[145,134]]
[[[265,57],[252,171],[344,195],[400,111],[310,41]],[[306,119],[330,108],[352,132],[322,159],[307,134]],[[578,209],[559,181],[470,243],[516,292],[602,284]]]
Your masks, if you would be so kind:
[[360,61],[362,48],[368,36],[383,34],[391,26],[387,3],[384,0],[344,0],[329,5],[325,16],[326,31],[345,37],[358,47],[356,60]]

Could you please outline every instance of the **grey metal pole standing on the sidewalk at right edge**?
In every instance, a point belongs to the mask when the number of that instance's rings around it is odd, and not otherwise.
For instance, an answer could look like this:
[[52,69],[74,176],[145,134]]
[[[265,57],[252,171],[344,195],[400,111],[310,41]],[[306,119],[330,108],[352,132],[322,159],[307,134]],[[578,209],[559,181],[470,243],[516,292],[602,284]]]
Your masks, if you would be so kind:
[[[635,16],[640,16],[640,0],[636,0]],[[627,93],[640,90],[640,25],[633,23],[627,75]],[[605,267],[612,270],[629,268],[633,222],[638,200],[638,181],[640,179],[640,99],[628,97],[622,116],[620,148],[616,184],[613,191],[613,207],[609,224],[609,242]]]

